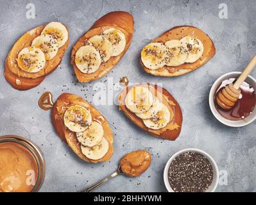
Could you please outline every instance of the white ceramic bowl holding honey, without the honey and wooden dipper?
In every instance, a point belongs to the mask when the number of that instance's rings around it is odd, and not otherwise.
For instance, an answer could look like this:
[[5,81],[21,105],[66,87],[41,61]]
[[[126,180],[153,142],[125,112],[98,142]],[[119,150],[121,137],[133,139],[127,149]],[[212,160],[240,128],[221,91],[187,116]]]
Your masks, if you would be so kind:
[[[228,120],[225,119],[225,117],[221,116],[218,111],[216,110],[216,107],[214,105],[214,96],[216,94],[216,90],[218,86],[221,84],[222,81],[225,79],[229,78],[238,78],[240,76],[241,72],[228,72],[224,74],[223,76],[219,77],[214,84],[212,85],[212,88],[210,89],[210,94],[209,94],[209,105],[210,105],[210,110],[212,111],[212,114],[216,117],[219,122],[225,124],[226,126],[230,127],[242,127],[250,124],[253,122],[253,120],[256,119],[256,109],[252,111],[252,113],[246,117],[246,119],[243,120]],[[246,78],[246,82],[252,85],[254,90],[256,90],[256,80],[252,76],[248,76]]]

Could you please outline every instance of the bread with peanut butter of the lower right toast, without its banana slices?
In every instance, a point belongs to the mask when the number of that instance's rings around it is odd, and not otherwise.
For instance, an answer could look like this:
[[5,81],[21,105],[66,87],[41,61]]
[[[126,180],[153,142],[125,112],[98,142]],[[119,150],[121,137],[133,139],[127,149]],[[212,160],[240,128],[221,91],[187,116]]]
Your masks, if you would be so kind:
[[[138,85],[135,85],[135,86],[138,86]],[[126,108],[125,98],[129,90],[133,88],[133,86],[124,88],[123,92],[118,96],[120,110],[122,110],[124,114],[130,120],[132,120],[134,124],[141,127],[142,129],[144,129],[144,131],[147,131],[149,134],[153,136],[157,136],[158,138],[163,138],[165,140],[176,140],[176,138],[180,135],[180,131],[182,129],[182,110],[180,109],[180,105],[178,104],[178,102],[166,89],[160,86],[151,85],[151,84],[142,84],[139,86],[148,87],[150,92],[155,97],[158,97],[160,102],[162,102],[167,106],[172,116],[167,126],[157,130],[149,129],[144,125],[144,122],[142,121],[142,119],[137,117],[135,113],[132,113],[132,111]]]

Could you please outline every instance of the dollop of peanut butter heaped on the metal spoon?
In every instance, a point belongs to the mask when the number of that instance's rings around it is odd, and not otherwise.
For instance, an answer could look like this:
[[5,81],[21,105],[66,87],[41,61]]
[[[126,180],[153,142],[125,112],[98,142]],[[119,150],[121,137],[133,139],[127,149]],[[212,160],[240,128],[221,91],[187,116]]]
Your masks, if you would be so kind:
[[151,154],[144,150],[126,154],[119,162],[121,170],[130,177],[137,177],[145,172],[151,163]]

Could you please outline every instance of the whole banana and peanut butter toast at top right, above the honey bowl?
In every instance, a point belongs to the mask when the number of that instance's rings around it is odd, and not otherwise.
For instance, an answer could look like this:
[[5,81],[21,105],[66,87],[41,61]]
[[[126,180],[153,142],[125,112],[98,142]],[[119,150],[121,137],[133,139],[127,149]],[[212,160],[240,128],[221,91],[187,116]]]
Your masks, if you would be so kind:
[[214,44],[203,31],[176,26],[142,49],[141,65],[155,76],[182,76],[207,63],[214,54]]

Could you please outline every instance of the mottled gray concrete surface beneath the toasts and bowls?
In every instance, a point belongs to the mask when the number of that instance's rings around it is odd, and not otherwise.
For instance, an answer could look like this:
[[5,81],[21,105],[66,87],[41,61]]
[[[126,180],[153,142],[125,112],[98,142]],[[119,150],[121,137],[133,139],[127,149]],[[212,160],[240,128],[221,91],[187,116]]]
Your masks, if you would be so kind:
[[[26,19],[28,3],[35,4],[35,19]],[[228,19],[219,19],[220,3],[227,4]],[[110,162],[95,165],[79,160],[61,142],[51,125],[50,111],[40,110],[37,101],[46,90],[55,99],[62,92],[71,92],[82,97],[87,94],[87,100],[92,101],[95,93],[92,85],[100,80],[74,85],[76,79],[69,63],[71,46],[95,20],[114,10],[132,13],[135,32],[130,49],[108,77],[114,78],[114,83],[123,76],[133,82],[163,83],[182,107],[183,127],[178,140],[163,141],[136,127],[117,106],[97,106],[109,120],[115,136]],[[228,185],[218,186],[218,192],[256,192],[256,122],[241,128],[223,126],[210,112],[207,100],[210,86],[219,76],[243,70],[255,54],[255,19],[255,1],[1,1],[0,133],[30,138],[42,149],[47,163],[42,192],[75,192],[96,183],[114,172],[124,154],[136,149],[149,149],[153,154],[149,170],[133,179],[115,177],[97,191],[165,192],[163,170],[167,160],[176,151],[189,147],[209,152],[219,169],[228,172]],[[22,33],[56,20],[69,27],[71,36],[61,69],[47,76],[36,88],[25,92],[14,90],[3,76],[8,51]],[[139,64],[142,47],[167,29],[186,24],[209,34],[216,45],[216,56],[200,69],[178,78],[146,74]],[[252,76],[256,77],[256,70]]]

